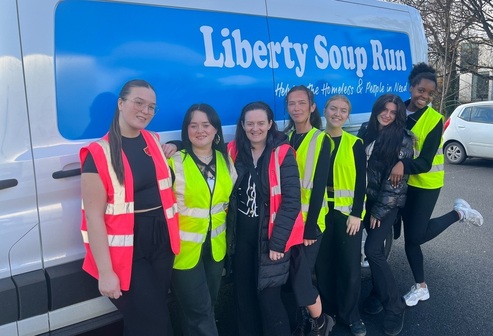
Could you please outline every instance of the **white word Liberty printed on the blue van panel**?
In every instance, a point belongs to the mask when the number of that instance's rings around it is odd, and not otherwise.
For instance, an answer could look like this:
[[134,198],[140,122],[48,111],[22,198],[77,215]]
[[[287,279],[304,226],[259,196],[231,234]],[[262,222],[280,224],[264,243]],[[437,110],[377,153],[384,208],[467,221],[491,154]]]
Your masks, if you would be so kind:
[[[205,61],[207,67],[234,68],[240,66],[249,68],[255,63],[260,69],[269,66],[279,68],[279,61],[283,61],[288,69],[295,69],[298,77],[305,73],[308,44],[292,43],[285,36],[281,42],[255,41],[252,43],[242,39],[240,29],[232,32],[228,28],[221,29],[222,50],[216,53],[213,43],[214,29],[210,26],[201,26],[200,31],[204,39]],[[293,51],[293,52],[292,52]]]

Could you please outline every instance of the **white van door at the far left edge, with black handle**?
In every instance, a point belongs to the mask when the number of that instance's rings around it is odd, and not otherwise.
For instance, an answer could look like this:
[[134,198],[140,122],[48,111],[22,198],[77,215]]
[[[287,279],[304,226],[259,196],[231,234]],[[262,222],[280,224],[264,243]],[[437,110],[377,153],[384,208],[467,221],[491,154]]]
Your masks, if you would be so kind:
[[[15,1],[0,2],[0,334],[46,331],[36,182]],[[44,314],[43,314],[44,313]],[[18,323],[18,320],[25,320]]]

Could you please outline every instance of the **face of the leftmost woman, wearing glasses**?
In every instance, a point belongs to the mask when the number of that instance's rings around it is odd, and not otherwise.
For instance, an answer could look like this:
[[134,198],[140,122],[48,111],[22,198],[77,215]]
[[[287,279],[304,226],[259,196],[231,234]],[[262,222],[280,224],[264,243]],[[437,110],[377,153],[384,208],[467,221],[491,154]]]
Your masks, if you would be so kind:
[[149,106],[155,105],[156,94],[154,90],[146,87],[133,87],[127,97],[119,98],[119,123],[122,135],[130,138],[138,136],[140,130],[146,128],[154,117]]

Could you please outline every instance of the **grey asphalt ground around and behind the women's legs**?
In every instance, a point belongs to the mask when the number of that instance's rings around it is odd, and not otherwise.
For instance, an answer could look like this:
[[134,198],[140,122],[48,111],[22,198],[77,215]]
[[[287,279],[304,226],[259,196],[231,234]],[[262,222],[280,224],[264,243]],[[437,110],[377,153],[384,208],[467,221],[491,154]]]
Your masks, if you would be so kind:
[[[454,199],[464,198],[485,219],[482,227],[456,223],[422,246],[425,277],[430,299],[406,311],[402,336],[491,336],[493,335],[493,161],[467,160],[445,166],[445,187],[435,207],[435,216],[450,211]],[[394,241],[389,257],[402,294],[414,280],[404,253],[404,240]],[[362,299],[369,293],[369,270],[363,271]],[[234,336],[231,286],[224,286],[217,307],[221,336]],[[367,335],[384,335],[383,313],[362,314]],[[331,336],[351,336],[336,325]]]

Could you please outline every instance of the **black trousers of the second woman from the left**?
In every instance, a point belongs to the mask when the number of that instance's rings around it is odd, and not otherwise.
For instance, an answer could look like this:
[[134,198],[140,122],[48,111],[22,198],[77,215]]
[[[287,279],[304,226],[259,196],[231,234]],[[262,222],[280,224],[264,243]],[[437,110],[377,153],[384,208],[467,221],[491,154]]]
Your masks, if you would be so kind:
[[212,257],[207,235],[198,264],[188,270],[173,270],[172,289],[184,315],[185,335],[218,335],[214,305],[221,286],[223,267],[224,259],[216,262]]

